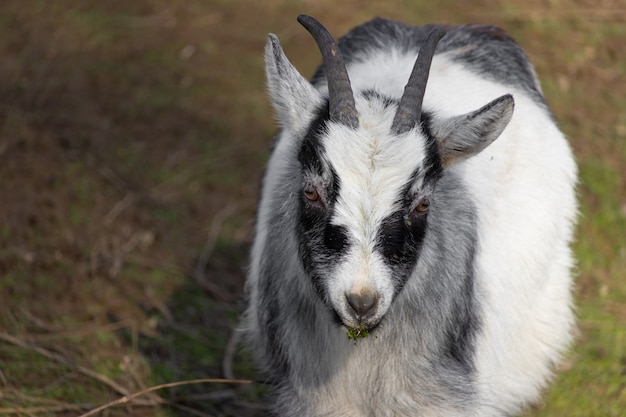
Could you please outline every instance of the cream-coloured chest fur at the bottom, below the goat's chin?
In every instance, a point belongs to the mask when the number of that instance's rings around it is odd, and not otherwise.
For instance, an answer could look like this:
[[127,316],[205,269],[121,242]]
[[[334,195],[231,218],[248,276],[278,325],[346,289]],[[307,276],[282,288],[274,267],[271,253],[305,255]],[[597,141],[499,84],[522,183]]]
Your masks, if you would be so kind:
[[[432,374],[441,370],[428,365],[415,352],[395,352],[380,339],[350,345],[336,356],[341,362],[334,362],[333,370],[323,372],[323,381],[300,392],[307,399],[312,416],[414,417],[416,410],[423,417],[467,413],[471,401],[464,401],[463,405],[459,401],[467,399],[467,393],[433,380]],[[444,381],[445,376],[437,379]]]

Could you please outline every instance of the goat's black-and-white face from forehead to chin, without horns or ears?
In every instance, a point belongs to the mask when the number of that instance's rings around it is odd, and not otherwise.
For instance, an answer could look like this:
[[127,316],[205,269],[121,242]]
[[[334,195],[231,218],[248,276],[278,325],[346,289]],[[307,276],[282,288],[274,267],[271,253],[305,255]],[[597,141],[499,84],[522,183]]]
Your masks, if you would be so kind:
[[389,133],[397,102],[370,93],[357,104],[359,128],[329,122],[324,109],[302,142],[297,235],[339,321],[371,329],[417,262],[442,165],[428,132]]

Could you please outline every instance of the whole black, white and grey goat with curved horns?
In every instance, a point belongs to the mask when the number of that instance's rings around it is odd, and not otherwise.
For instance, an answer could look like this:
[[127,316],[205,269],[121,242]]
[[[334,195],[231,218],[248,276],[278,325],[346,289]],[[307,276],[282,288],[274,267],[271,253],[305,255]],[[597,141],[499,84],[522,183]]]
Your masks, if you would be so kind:
[[244,318],[274,412],[518,412],[574,325],[577,170],[532,65],[489,26],[298,20],[324,64],[309,83],[269,35]]

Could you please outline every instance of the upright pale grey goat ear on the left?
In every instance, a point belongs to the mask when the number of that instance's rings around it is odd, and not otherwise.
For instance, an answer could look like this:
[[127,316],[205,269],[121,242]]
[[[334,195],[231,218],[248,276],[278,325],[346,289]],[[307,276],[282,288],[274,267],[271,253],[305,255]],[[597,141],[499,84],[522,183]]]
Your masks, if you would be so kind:
[[278,122],[292,132],[305,128],[322,97],[289,62],[274,34],[265,44],[265,74]]

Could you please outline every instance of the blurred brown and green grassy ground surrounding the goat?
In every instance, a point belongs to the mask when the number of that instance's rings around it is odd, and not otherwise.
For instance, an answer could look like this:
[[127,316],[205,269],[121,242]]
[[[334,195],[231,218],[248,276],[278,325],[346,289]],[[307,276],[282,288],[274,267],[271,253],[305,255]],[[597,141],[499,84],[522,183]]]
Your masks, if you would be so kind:
[[[526,50],[581,178],[577,342],[526,415],[623,416],[623,0],[3,0],[0,415],[81,415],[223,362],[255,378],[228,341],[275,131],[263,47],[277,34],[312,75],[300,13],[337,37],[373,16],[489,23]],[[263,410],[258,383],[197,383],[100,415]]]

